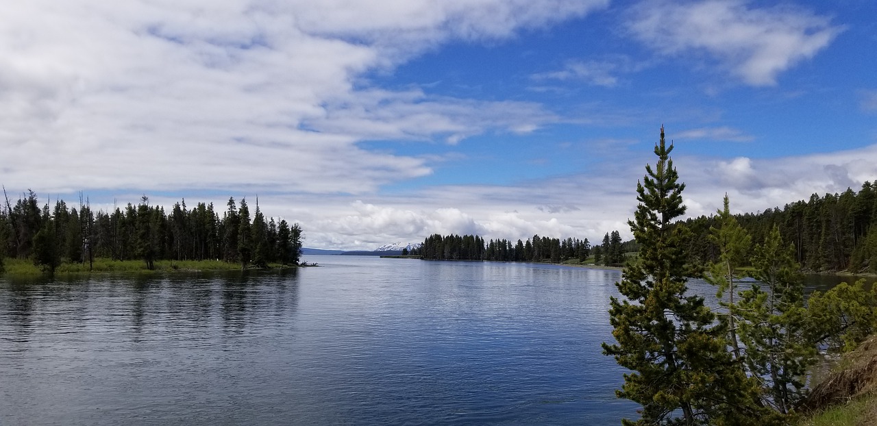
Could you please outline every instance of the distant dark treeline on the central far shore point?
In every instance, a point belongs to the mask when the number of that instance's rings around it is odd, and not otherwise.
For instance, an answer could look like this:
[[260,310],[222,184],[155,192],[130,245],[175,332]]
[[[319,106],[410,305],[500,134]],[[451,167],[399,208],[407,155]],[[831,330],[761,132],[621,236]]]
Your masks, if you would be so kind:
[[514,262],[553,262],[587,259],[591,252],[588,238],[548,238],[534,235],[526,242],[518,239],[491,239],[474,235],[431,235],[411,255],[432,260],[500,260]]

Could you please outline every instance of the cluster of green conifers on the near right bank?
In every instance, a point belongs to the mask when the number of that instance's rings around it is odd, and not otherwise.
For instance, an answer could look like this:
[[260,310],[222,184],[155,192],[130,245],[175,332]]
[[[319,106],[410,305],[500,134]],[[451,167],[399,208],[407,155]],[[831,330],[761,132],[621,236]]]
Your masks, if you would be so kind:
[[[602,344],[631,370],[617,396],[642,406],[638,421],[623,424],[789,424],[806,401],[817,352],[850,351],[877,330],[877,289],[843,283],[805,303],[798,245],[780,223],[753,235],[727,196],[701,234],[713,259],[692,265],[695,231],[674,222],[686,207],[672,150],[661,129],[659,160],[645,167],[629,221],[638,257],[616,284],[621,297],[610,300],[615,342]],[[741,282],[743,264],[756,283]],[[717,308],[688,292],[688,278],[701,276],[716,286]]]

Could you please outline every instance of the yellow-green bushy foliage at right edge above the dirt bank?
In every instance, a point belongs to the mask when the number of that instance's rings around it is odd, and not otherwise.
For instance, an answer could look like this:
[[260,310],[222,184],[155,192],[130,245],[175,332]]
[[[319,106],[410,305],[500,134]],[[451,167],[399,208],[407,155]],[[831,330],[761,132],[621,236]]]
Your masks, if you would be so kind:
[[816,291],[808,305],[811,338],[824,342],[829,351],[852,351],[877,331],[877,286],[867,291],[865,280]]

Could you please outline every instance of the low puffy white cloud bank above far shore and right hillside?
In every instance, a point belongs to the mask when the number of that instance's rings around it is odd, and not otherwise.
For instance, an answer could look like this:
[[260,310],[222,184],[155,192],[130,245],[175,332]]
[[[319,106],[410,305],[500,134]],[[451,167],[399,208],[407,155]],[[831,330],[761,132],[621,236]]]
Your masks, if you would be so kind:
[[[722,207],[725,193],[734,212],[759,212],[807,200],[811,194],[858,190],[877,181],[877,146],[826,154],[774,159],[738,157],[717,160],[674,151],[674,164],[688,207],[687,217],[711,215]],[[609,231],[631,238],[627,220],[636,208],[636,182],[654,156],[644,150],[602,165],[587,174],[531,181],[517,186],[435,187],[399,197],[374,197],[357,214],[331,215],[305,223],[309,244],[352,241],[332,228],[349,232],[362,248],[389,241],[419,242],[432,233],[478,233],[484,238],[526,239],[533,234],[555,238],[588,238]],[[447,208],[447,200],[459,209]],[[407,233],[412,231],[412,233]],[[332,245],[327,245],[332,246]],[[345,246],[345,245],[339,245]]]

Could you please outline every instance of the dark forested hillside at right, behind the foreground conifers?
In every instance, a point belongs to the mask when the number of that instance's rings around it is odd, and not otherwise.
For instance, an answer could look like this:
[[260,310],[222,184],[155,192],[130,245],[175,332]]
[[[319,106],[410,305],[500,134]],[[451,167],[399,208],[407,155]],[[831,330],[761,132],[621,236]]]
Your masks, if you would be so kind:
[[[761,244],[775,226],[781,237],[795,246],[795,261],[809,271],[877,273],[877,185],[862,184],[859,192],[811,195],[808,201],[786,204],[782,209],[735,215],[738,223]],[[685,224],[692,231],[688,247],[692,264],[717,259],[709,229],[717,218],[697,217]]]

